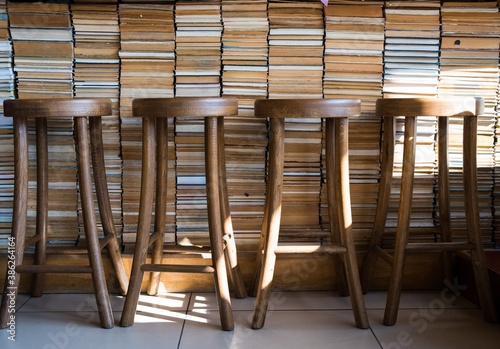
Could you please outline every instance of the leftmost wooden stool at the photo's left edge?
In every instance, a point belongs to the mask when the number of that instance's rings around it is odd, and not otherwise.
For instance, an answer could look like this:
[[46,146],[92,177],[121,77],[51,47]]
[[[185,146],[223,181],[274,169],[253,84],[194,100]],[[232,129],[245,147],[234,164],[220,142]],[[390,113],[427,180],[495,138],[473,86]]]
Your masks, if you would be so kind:
[[[94,285],[101,326],[114,326],[113,313],[106,285],[105,273],[101,259],[101,250],[107,247],[122,292],[125,294],[128,277],[123,265],[120,246],[116,238],[113,216],[109,201],[104,154],[102,142],[101,116],[111,114],[109,99],[18,99],[4,101],[5,116],[14,118],[14,210],[12,217],[12,237],[15,244],[15,255],[9,253],[4,297],[0,309],[1,326],[7,327],[10,307],[15,303],[21,273],[34,273],[32,295],[40,296],[43,292],[43,275],[45,273],[90,273]],[[48,225],[48,119],[68,119],[74,122],[76,164],[78,184],[81,195],[82,213],[90,266],[46,265],[46,238]],[[36,233],[25,241],[26,218],[28,206],[28,119],[34,119],[36,125],[37,153],[37,204]],[[88,120],[88,126],[87,126]],[[89,132],[90,130],[90,132]],[[90,137],[90,139],[89,139]],[[90,143],[90,149],[89,149]],[[95,218],[95,205],[92,193],[92,176],[90,159],[100,217],[104,230],[104,238],[99,241]],[[35,245],[35,262],[23,265],[24,251]],[[59,251],[64,254],[81,253],[67,249]]]

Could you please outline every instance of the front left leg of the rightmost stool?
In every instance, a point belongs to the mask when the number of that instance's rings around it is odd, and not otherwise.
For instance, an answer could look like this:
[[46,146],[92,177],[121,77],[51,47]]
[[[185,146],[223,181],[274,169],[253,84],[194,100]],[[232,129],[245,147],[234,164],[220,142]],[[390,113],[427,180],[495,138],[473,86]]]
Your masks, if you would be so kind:
[[405,119],[403,169],[401,175],[398,224],[396,228],[396,245],[394,247],[394,261],[383,321],[384,325],[387,326],[392,326],[396,323],[399,300],[401,297],[401,283],[403,279],[406,244],[408,242],[413,199],[413,176],[415,172],[415,151],[417,144],[416,123],[416,117],[407,117]]

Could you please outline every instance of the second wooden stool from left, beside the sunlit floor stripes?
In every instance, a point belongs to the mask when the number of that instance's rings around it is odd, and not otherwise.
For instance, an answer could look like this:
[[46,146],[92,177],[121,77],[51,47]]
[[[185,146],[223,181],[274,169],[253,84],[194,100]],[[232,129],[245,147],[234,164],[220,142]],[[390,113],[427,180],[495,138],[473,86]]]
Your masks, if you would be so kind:
[[[223,117],[237,115],[238,102],[234,98],[219,97],[144,98],[135,99],[132,102],[132,111],[134,116],[143,117],[141,199],[130,285],[120,325],[131,326],[134,323],[143,272],[152,272],[150,294],[157,292],[159,272],[214,273],[221,326],[224,330],[233,330],[234,321],[228,274],[236,297],[246,297],[246,291],[237,262],[236,244],[229,212]],[[167,119],[177,118],[178,120],[179,118],[193,117],[204,118],[205,123],[205,174],[210,235],[209,251],[211,251],[212,265],[167,265],[162,264],[164,248],[169,248],[163,243],[166,220],[166,180],[156,180],[155,228],[154,233],[150,234],[152,206],[155,197],[155,158],[156,178],[166,178]],[[154,244],[152,264],[145,264],[150,244]],[[176,252],[200,253],[199,248],[192,246],[170,248]]]

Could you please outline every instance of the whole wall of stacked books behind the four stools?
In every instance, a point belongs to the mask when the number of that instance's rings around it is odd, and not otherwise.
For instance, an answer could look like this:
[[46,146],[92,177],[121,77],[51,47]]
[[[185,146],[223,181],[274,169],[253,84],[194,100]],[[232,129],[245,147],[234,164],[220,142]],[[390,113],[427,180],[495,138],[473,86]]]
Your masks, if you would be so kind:
[[[0,1],[0,99],[108,97],[104,118],[109,191],[123,243],[134,241],[139,204],[141,120],[133,98],[236,96],[226,120],[230,204],[237,241],[256,243],[264,205],[266,120],[258,98],[360,98],[350,122],[356,241],[368,241],[377,200],[381,120],[375,100],[394,96],[480,96],[479,191],[485,243],[500,244],[499,46],[497,1],[178,0]],[[1,109],[1,108],[0,108]],[[1,110],[0,110],[1,112]],[[460,120],[451,121],[453,229],[461,203]],[[199,120],[171,122],[166,242],[203,242],[206,232],[203,135]],[[286,122],[283,224],[329,224],[320,120]],[[436,119],[418,121],[413,239],[438,220]],[[51,122],[49,235],[74,244],[81,231],[71,124]],[[398,132],[402,135],[402,123]],[[33,130],[31,130],[34,135]],[[455,136],[457,135],[457,136]],[[397,146],[396,159],[401,158]],[[10,233],[12,120],[0,115],[0,246]],[[34,156],[31,167],[36,166]],[[401,163],[395,168],[398,178]],[[34,174],[30,174],[34,180]],[[397,180],[396,180],[397,182]],[[396,194],[387,221],[396,225]],[[34,228],[35,183],[29,226]],[[189,233],[189,234],[188,234]]]

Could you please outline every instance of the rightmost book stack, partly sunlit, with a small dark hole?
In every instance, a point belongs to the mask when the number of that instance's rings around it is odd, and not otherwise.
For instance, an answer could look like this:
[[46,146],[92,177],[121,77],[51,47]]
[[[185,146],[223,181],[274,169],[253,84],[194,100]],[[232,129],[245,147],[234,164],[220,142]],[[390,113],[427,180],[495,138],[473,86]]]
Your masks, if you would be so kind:
[[[445,2],[441,9],[441,73],[438,94],[440,97],[472,96],[485,101],[484,114],[478,119],[478,189],[481,225],[485,237],[491,242],[492,202],[491,193],[496,179],[495,122],[497,119],[498,61],[500,44],[500,13],[496,1]],[[453,138],[450,141],[450,178],[454,193],[452,201],[453,228],[463,231],[462,192],[462,120],[451,120]],[[494,192],[494,191],[493,191]],[[494,195],[494,206],[498,204]]]

